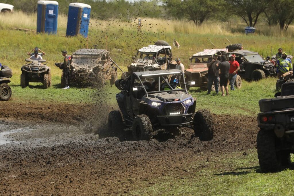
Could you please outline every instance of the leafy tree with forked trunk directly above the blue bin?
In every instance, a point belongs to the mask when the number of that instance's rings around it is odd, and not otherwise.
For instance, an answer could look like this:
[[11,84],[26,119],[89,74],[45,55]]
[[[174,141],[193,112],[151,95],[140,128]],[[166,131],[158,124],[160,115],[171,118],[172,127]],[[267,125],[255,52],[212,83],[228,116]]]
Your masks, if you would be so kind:
[[226,0],[229,11],[240,16],[248,26],[255,26],[258,17],[268,6],[266,0]]

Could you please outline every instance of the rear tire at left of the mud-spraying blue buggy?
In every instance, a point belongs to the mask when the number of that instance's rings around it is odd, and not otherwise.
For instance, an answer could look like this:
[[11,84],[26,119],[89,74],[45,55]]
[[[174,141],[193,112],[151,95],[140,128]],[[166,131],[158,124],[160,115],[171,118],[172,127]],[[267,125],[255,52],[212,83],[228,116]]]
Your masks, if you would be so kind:
[[123,119],[118,110],[113,110],[108,115],[108,133],[111,136],[119,136],[123,132]]

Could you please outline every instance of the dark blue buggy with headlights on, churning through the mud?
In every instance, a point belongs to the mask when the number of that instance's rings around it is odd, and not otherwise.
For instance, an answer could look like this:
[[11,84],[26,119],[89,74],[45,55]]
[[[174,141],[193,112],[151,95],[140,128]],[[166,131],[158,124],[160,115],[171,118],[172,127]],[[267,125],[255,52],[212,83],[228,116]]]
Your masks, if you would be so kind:
[[[190,127],[201,140],[213,139],[211,114],[207,110],[194,113],[196,100],[186,89],[194,81],[186,83],[184,79],[183,89],[173,88],[168,81],[170,75],[179,74],[184,78],[178,69],[133,72],[126,80],[117,80],[116,87],[121,92],[116,94],[116,100],[123,118],[119,111],[110,112],[109,132],[119,135],[127,126],[132,128],[134,140],[150,140],[158,129],[174,132],[177,127]],[[153,82],[149,82],[151,79]]]

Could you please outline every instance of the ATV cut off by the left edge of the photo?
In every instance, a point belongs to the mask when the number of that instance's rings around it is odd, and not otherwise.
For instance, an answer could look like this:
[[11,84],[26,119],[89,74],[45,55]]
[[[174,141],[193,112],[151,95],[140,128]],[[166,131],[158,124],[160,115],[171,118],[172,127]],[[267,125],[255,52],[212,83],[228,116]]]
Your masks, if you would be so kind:
[[0,101],[8,101],[11,97],[11,88],[8,83],[11,82],[12,70],[7,66],[0,66]]

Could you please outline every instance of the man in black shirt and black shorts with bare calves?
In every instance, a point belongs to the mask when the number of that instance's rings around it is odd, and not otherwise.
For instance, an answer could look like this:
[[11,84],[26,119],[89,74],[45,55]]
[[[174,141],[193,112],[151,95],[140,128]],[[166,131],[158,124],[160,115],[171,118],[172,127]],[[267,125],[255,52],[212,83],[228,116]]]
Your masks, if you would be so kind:
[[[229,95],[228,89],[228,80],[229,80],[229,70],[230,70],[230,63],[227,62],[227,57],[223,55],[221,57],[222,62],[217,64],[216,66],[220,69],[220,90],[222,96],[225,96],[225,92]],[[224,92],[225,89],[225,92]]]

